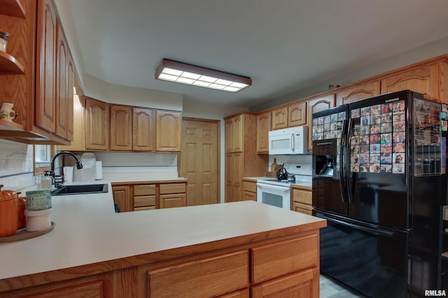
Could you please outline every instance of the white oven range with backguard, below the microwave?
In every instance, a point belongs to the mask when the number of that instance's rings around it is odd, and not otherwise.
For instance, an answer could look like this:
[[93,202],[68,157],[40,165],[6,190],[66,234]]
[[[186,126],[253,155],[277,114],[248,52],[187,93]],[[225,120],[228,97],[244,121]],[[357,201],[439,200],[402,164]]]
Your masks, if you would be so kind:
[[291,210],[292,195],[291,185],[300,183],[311,184],[312,165],[286,163],[283,165],[286,172],[295,175],[295,181],[278,180],[275,178],[257,179],[257,202]]

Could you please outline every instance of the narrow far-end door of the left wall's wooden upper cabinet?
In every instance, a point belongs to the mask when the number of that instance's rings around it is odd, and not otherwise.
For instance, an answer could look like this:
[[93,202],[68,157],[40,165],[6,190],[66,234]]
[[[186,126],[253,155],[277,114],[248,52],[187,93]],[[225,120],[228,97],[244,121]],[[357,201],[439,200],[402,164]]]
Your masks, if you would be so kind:
[[59,135],[59,137],[66,138],[69,124],[69,110],[73,111],[73,102],[70,105],[69,92],[67,90],[69,83],[69,49],[67,48],[64,33],[62,32],[59,23],[57,24],[56,66],[56,134]]

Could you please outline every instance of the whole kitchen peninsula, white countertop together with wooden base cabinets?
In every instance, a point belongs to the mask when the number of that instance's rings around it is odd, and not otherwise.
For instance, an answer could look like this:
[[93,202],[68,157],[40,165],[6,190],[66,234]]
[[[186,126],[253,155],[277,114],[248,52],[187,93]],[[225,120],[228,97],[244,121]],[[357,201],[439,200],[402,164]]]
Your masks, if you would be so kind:
[[319,295],[320,218],[252,201],[116,214],[110,191],[52,207],[54,230],[0,244],[1,297]]

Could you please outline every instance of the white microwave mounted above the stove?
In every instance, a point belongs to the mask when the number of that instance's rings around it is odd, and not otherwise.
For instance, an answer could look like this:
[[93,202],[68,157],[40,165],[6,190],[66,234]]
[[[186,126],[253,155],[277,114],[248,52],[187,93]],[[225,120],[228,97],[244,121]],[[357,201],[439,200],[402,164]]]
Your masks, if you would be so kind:
[[269,131],[269,155],[308,154],[308,126]]

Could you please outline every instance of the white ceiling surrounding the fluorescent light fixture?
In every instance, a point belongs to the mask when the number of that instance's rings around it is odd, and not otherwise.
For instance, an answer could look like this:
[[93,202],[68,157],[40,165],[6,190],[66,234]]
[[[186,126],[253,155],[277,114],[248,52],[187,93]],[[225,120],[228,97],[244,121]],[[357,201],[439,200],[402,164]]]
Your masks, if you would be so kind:
[[[85,73],[247,107],[448,36],[447,0],[66,3]],[[155,80],[163,58],[251,77],[253,85],[232,94]]]

